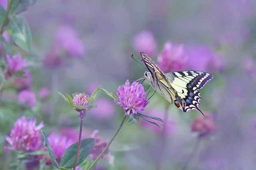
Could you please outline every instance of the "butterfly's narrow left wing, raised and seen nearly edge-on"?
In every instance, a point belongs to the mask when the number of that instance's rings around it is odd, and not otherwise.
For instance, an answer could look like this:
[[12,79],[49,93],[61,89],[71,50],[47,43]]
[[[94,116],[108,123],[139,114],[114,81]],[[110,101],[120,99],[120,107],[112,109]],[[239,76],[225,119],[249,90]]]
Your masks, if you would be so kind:
[[176,100],[177,92],[172,88],[172,85],[168,81],[168,78],[164,75],[164,72],[156,66],[156,64],[148,57],[144,52],[140,53],[142,61],[146,65],[148,72],[152,75],[150,79],[147,78],[149,84],[158,91],[164,98],[172,103],[173,100]]

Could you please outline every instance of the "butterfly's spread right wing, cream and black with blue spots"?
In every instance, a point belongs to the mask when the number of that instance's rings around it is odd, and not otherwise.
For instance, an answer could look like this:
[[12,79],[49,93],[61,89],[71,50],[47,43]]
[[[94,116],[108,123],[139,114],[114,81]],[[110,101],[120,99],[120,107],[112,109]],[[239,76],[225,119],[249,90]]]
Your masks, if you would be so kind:
[[180,109],[182,109],[183,112],[192,109],[201,112],[198,108],[200,105],[199,100],[201,99],[198,90],[203,88],[213,76],[209,73],[200,71],[170,72],[166,73],[165,76],[178,93],[177,100],[181,106]]

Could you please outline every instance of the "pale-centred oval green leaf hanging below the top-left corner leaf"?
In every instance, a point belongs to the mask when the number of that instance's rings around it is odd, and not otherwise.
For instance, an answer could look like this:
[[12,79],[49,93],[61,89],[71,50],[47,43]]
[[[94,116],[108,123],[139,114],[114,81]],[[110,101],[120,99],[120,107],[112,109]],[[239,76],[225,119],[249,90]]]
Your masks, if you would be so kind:
[[23,17],[12,16],[10,20],[11,36],[14,42],[23,50],[29,52],[32,44],[32,36],[28,23]]

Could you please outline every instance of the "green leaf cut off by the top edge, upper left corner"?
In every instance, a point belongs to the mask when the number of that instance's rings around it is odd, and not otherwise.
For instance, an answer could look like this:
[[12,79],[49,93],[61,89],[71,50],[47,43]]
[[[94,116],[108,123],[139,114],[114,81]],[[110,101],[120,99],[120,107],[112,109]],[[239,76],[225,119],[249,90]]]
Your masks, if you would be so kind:
[[36,3],[36,0],[13,0],[11,6],[12,14],[20,14],[28,10],[28,7]]

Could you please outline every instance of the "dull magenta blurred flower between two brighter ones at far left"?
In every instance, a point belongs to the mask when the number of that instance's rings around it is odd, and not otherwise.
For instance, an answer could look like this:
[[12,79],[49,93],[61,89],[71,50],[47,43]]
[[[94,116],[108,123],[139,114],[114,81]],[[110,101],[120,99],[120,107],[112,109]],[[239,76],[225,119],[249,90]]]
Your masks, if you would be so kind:
[[14,81],[11,83],[12,86],[16,86],[18,88],[18,91],[21,90],[29,90],[31,88],[32,83],[32,75],[30,73],[30,70],[24,70],[25,73],[23,74],[24,77],[16,77]]

